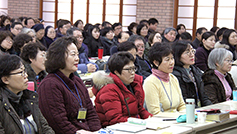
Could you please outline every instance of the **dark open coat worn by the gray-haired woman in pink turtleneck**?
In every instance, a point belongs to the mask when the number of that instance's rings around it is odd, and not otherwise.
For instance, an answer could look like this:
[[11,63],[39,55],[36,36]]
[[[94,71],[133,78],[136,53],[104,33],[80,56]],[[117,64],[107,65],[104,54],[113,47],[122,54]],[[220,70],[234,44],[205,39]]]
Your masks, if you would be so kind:
[[[222,85],[219,78],[215,75],[214,70],[206,70],[202,76],[202,79],[204,82],[204,89],[206,91],[206,94],[213,104],[226,101],[224,86]],[[233,90],[235,88],[235,84],[229,73],[227,73],[225,79]],[[230,99],[233,99],[233,95],[231,95]]]

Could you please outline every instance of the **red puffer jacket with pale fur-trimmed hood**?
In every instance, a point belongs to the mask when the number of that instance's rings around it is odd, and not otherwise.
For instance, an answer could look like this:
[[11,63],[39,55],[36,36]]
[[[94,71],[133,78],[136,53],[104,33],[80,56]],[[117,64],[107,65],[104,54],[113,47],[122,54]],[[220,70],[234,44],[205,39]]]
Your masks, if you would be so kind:
[[142,88],[142,76],[135,75],[134,81],[130,84],[134,94],[113,73],[110,73],[108,76],[99,72],[94,75],[93,82],[94,87],[92,91],[96,96],[96,112],[103,127],[126,122],[129,113],[131,117],[142,119],[152,116],[143,107],[144,91]]

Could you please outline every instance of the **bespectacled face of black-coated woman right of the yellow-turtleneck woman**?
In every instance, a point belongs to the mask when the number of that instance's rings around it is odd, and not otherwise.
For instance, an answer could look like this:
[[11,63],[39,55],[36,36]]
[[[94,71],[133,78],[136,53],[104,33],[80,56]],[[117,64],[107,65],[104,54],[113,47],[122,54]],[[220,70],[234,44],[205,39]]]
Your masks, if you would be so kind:
[[182,53],[180,61],[184,64],[183,67],[189,68],[190,65],[195,63],[196,50],[191,45],[188,45],[187,49]]

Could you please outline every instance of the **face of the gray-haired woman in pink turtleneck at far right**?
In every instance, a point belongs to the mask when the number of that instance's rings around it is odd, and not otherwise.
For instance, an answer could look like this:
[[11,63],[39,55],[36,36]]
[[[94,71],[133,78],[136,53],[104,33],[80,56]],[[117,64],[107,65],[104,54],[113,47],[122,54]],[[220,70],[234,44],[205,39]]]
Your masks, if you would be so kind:
[[222,74],[226,74],[231,70],[231,65],[232,65],[232,58],[231,56],[228,56],[227,58],[225,58],[222,66],[217,63],[217,70]]

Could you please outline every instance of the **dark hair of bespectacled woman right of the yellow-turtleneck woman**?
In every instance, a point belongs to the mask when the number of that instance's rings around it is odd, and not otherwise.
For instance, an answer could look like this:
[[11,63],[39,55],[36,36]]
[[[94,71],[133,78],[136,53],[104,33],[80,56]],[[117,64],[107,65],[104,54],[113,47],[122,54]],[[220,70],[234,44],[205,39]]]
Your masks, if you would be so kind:
[[175,66],[183,66],[184,63],[180,61],[181,55],[188,48],[188,46],[192,46],[190,41],[187,40],[178,40],[172,45]]

